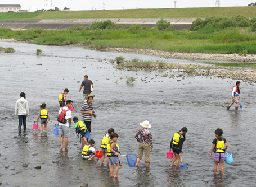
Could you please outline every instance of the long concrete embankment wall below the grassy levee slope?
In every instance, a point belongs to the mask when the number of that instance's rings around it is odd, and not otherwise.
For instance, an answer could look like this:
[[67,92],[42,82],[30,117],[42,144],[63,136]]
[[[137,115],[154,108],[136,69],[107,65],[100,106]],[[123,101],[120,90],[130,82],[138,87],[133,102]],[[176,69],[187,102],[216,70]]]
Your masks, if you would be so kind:
[[[24,30],[30,29],[33,27],[41,27],[46,30],[60,30],[68,29],[70,27],[77,26],[89,26],[93,22],[111,20],[115,24],[120,24],[123,26],[127,25],[141,25],[154,27],[159,18],[114,18],[114,19],[68,19],[68,20],[57,20],[57,19],[48,19],[48,20],[0,20],[0,27],[6,27],[14,30]],[[188,29],[192,22],[196,18],[165,18],[167,22],[170,22],[175,29]]]

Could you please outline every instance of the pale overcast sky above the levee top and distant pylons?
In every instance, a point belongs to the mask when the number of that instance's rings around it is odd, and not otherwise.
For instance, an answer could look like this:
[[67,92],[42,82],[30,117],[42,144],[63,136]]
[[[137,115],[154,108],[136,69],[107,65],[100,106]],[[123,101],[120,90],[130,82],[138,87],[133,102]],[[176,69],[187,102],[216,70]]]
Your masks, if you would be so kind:
[[[256,0],[220,0],[221,7],[248,6]],[[173,0],[53,0],[53,6],[70,10],[102,10],[133,9],[133,8],[173,8]],[[176,8],[215,7],[216,0],[177,0]],[[0,0],[0,4],[20,4],[21,9],[28,10],[30,6],[44,6],[44,0]]]

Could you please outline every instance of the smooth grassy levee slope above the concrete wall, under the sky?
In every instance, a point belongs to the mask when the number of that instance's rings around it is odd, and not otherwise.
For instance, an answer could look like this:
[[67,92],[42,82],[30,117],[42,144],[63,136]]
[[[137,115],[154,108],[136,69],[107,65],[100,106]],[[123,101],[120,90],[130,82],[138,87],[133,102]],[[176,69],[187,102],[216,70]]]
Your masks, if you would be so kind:
[[5,19],[86,19],[86,18],[203,18],[206,16],[256,16],[256,7],[163,8],[95,11],[6,12]]

